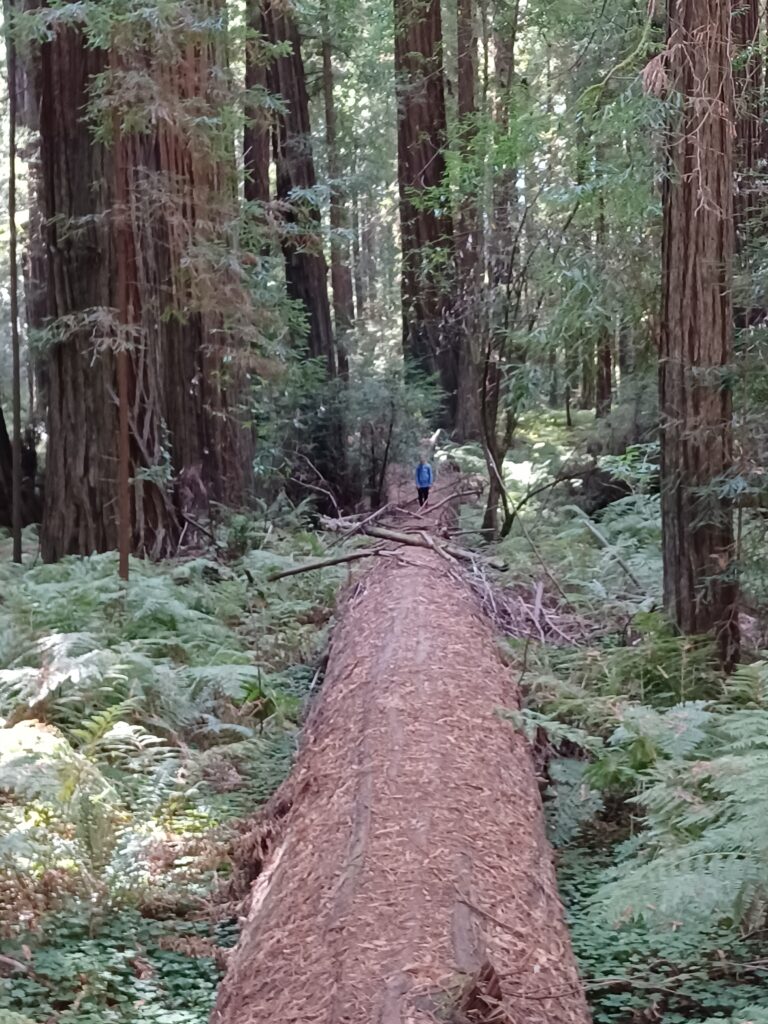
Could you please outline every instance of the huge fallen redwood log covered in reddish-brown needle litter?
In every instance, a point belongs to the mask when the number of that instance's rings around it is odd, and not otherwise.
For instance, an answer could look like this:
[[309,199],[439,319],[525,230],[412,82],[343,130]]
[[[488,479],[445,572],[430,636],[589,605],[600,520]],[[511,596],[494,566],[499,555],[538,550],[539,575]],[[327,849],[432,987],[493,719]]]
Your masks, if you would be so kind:
[[408,557],[377,562],[343,610],[254,833],[214,1024],[589,1020],[530,753],[498,714],[508,671],[444,562]]

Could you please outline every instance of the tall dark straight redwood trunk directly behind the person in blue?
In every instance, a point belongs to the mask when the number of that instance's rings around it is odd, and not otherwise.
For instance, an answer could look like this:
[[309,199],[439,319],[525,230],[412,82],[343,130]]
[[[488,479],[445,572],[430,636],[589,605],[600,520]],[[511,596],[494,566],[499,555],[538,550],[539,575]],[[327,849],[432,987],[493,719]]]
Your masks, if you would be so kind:
[[446,116],[439,0],[394,0],[397,178],[406,357],[438,374],[444,422],[456,422],[459,361],[453,324],[454,225],[443,196]]

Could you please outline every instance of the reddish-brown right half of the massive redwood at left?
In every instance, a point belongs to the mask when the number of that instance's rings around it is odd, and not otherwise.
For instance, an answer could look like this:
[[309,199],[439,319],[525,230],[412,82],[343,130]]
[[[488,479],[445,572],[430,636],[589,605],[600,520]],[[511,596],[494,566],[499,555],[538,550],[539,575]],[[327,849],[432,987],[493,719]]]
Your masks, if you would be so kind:
[[[200,0],[201,15],[220,7],[221,0]],[[222,243],[236,247],[225,227],[234,210],[234,154],[222,155],[220,138],[186,127],[189,112],[205,121],[229,101],[225,80],[213,73],[226,67],[227,54],[205,20],[177,46],[179,62],[168,67],[148,40],[143,70],[176,116],[159,119],[133,141],[142,327],[147,347],[163,350],[163,415],[175,475],[199,474],[210,499],[239,506],[253,482],[247,380],[253,310],[237,276],[207,255]]]

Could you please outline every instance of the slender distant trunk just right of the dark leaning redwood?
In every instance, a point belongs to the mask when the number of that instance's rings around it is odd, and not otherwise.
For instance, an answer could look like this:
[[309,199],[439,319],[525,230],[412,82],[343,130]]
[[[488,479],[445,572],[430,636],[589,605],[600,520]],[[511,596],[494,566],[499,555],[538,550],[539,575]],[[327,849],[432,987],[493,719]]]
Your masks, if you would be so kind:
[[[336,99],[334,96],[333,45],[328,0],[323,10],[323,98],[326,114],[328,174],[331,179],[331,287],[334,297],[334,322],[338,337],[349,331],[354,321],[352,270],[349,265],[349,229],[346,200],[341,184],[341,164],[337,140]],[[339,371],[348,373],[347,357],[339,349]]]

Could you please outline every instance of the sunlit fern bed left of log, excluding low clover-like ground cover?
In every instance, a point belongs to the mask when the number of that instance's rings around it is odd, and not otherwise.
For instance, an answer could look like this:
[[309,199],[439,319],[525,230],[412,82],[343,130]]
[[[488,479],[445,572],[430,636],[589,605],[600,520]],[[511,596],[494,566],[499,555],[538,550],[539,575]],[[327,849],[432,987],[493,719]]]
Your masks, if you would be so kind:
[[14,580],[0,604],[6,880],[34,890],[52,870],[62,898],[135,901],[158,885],[154,849],[251,814],[280,783],[312,676],[286,666],[315,650],[343,574],[254,587],[318,543],[272,542],[285,550],[252,552],[250,578],[137,562],[125,588],[114,555],[0,567]]

